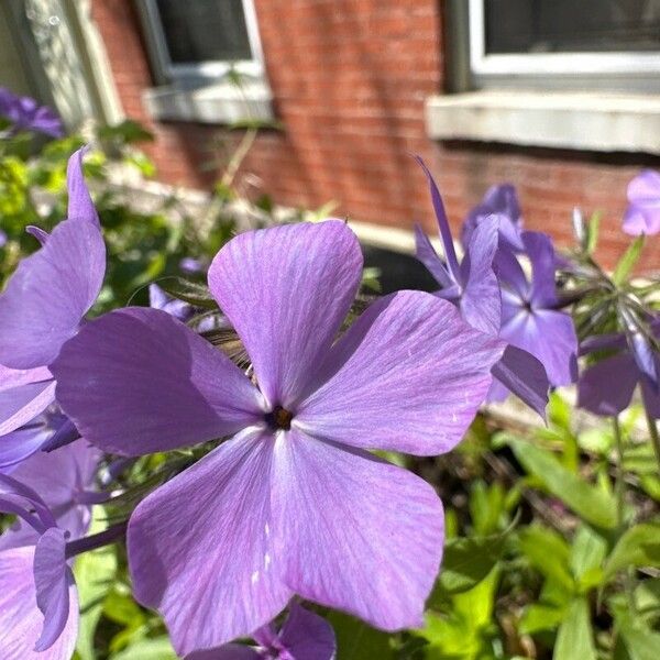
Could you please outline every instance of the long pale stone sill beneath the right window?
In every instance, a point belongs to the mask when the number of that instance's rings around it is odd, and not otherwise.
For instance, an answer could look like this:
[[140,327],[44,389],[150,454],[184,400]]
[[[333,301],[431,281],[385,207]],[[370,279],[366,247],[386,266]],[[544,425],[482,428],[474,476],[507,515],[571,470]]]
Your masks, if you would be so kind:
[[432,96],[426,122],[436,140],[660,153],[660,96],[510,90]]

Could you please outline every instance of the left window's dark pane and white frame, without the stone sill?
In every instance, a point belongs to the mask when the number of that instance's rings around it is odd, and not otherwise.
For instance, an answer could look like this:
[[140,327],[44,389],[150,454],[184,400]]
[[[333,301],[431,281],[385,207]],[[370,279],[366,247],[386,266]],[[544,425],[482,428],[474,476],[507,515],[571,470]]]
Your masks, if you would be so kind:
[[144,0],[154,69],[165,80],[193,85],[230,70],[263,74],[252,0]]

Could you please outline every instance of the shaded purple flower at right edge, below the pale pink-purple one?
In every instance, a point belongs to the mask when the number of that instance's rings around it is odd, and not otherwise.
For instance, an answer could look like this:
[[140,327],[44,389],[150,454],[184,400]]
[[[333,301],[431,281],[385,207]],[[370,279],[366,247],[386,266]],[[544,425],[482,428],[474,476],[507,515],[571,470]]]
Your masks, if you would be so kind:
[[[660,319],[651,323],[651,331],[660,338]],[[650,346],[644,350],[642,355],[636,355],[635,349],[635,343],[627,342],[623,333],[597,336],[584,341],[582,354],[603,350],[616,352],[581,374],[578,406],[595,415],[618,415],[630,405],[632,393],[639,385],[647,413],[660,419],[660,392],[657,382],[649,375],[649,372],[660,374],[660,355]]]

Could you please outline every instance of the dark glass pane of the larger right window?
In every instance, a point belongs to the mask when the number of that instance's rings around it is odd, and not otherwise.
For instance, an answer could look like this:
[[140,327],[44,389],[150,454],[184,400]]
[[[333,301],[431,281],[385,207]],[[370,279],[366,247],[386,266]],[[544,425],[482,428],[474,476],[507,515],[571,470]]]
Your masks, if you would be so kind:
[[660,51],[660,0],[484,0],[486,53]]

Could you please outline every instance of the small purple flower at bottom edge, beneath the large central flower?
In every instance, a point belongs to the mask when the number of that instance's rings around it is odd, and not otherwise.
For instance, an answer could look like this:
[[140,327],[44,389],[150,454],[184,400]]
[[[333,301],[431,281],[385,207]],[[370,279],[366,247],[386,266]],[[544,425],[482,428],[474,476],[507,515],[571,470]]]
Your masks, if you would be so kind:
[[332,660],[337,650],[332,626],[295,601],[279,632],[273,624],[252,634],[256,647],[228,644],[196,651],[186,660]]

